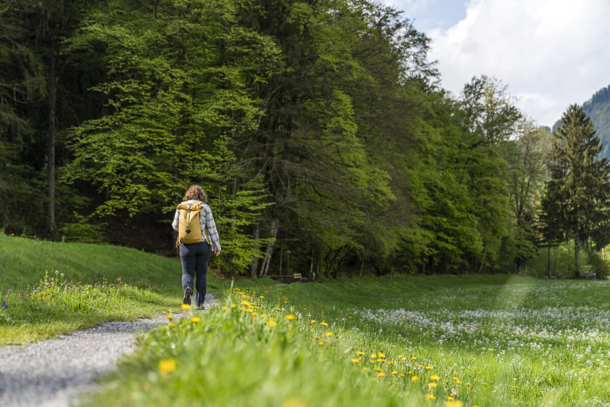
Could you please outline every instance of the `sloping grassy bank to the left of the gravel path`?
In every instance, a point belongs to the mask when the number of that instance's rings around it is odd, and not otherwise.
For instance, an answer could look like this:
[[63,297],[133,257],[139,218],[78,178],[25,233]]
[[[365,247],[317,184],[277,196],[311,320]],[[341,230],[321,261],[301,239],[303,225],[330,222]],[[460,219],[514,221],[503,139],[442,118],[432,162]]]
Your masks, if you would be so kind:
[[178,311],[181,265],[130,248],[0,234],[0,294],[0,345],[23,344]]

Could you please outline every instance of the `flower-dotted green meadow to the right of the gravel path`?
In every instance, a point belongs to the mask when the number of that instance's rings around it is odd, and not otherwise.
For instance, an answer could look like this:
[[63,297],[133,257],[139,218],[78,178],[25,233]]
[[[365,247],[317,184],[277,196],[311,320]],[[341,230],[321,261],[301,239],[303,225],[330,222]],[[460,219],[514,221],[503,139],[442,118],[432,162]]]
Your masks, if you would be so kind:
[[87,405],[608,405],[606,281],[262,283],[143,336]]

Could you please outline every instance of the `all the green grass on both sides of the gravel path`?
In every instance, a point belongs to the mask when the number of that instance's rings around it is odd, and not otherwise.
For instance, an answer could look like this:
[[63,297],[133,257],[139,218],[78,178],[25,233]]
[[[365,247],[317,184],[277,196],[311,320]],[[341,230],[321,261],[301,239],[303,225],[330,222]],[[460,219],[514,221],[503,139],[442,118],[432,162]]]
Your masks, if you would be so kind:
[[[0,254],[2,344],[179,310],[174,259],[6,236]],[[390,275],[276,284],[210,278],[220,306],[142,334],[82,403],[608,406],[608,281]]]

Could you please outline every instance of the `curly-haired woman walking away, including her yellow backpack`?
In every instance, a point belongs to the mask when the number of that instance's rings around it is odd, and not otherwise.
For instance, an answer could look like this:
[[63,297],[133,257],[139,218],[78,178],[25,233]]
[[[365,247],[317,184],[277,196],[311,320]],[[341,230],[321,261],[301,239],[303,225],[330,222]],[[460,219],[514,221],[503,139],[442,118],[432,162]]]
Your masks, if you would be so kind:
[[[203,309],[206,299],[207,263],[210,260],[212,244],[214,254],[220,254],[220,237],[212,217],[212,209],[206,203],[207,196],[199,185],[191,185],[176,207],[174,222],[171,226],[178,231],[180,260],[182,262],[182,303],[191,303],[193,288],[195,303]],[[195,279],[195,284],[193,284]]]

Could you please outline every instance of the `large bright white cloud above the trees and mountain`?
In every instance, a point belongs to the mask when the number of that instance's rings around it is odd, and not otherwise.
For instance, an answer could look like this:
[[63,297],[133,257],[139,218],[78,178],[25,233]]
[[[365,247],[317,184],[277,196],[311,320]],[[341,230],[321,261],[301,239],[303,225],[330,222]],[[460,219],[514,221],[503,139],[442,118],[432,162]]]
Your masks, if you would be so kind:
[[493,76],[529,117],[552,126],[610,84],[609,16],[609,0],[470,0],[464,20],[427,33],[430,59],[456,95],[473,76]]

